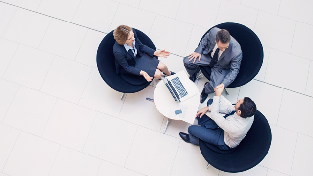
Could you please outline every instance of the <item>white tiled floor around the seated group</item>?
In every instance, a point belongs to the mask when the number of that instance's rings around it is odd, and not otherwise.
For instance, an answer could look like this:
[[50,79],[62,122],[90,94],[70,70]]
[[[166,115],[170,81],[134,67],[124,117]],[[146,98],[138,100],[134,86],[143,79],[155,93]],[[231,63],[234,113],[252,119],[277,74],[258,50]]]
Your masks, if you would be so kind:
[[[312,9],[312,0],[0,0],[0,176],[312,175]],[[268,155],[237,174],[206,169],[199,147],[179,138],[189,124],[162,133],[166,118],[145,100],[158,81],[120,100],[95,62],[102,38],[126,24],[183,70],[221,22],[246,25],[264,47],[255,79],[224,93],[251,97],[272,129]]]

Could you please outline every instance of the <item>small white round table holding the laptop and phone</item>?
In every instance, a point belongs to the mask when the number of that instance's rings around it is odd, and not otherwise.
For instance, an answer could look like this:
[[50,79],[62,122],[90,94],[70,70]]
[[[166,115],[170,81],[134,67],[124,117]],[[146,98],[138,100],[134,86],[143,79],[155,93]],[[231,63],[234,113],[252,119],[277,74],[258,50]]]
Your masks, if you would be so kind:
[[[187,100],[183,101],[184,104],[187,105],[192,105],[192,106],[196,106],[197,108],[200,105],[200,92],[196,86],[195,83],[193,83],[191,80],[189,80],[192,85],[193,88],[197,89],[197,94],[188,98]],[[156,109],[162,114],[164,115],[167,119],[165,128],[164,128],[164,132],[166,131],[169,119],[172,120],[179,120],[179,119],[175,119],[175,118],[169,118],[170,115],[170,108],[171,108],[171,103],[175,103],[176,101],[174,100],[174,98],[172,97],[170,91],[166,88],[166,85],[163,81],[160,81],[155,88],[155,91],[153,93],[153,99],[154,99],[154,103],[156,105]]]

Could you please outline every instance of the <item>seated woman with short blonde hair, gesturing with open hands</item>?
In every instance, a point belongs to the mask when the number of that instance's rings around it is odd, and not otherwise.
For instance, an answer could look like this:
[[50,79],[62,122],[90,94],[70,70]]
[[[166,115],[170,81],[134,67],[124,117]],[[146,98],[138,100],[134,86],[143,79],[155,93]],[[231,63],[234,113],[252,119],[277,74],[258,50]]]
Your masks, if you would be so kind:
[[161,72],[165,75],[175,74],[154,57],[166,58],[170,53],[165,49],[155,51],[142,44],[133,28],[120,25],[114,30],[113,35],[116,40],[113,52],[117,74],[142,75],[147,81],[152,81],[153,77],[160,79]]

